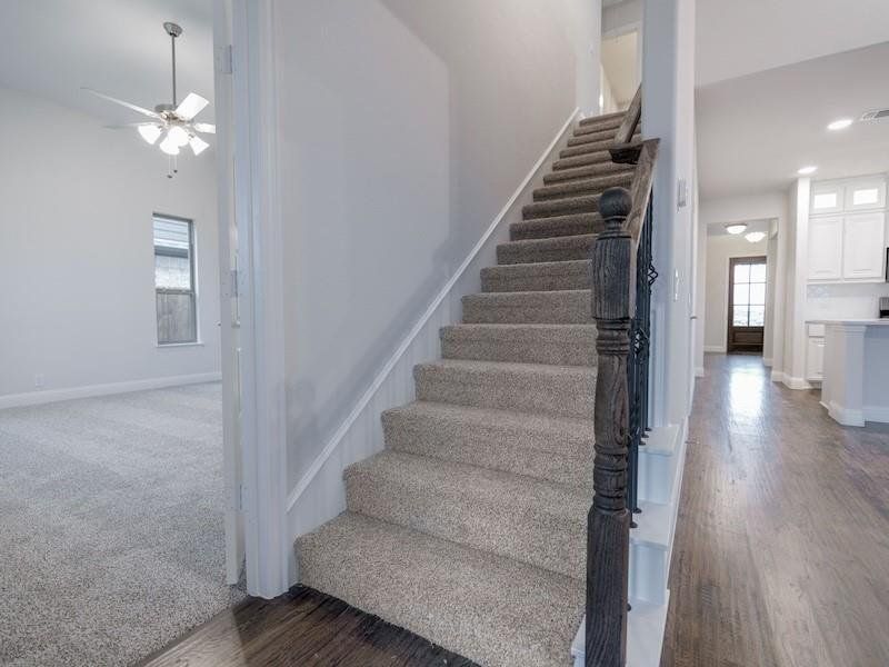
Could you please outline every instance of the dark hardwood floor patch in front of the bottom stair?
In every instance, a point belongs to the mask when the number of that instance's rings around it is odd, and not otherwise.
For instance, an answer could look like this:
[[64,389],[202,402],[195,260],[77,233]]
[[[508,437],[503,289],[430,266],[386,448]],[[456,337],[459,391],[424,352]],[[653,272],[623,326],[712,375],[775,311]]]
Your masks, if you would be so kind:
[[141,667],[478,667],[311,588],[247,599]]

